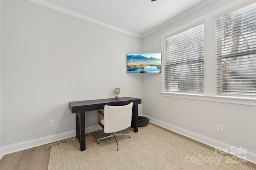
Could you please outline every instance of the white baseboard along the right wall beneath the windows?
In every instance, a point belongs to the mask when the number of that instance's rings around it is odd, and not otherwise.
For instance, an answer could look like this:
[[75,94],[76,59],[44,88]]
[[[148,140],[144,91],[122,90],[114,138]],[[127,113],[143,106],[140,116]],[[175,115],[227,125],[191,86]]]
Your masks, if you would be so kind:
[[[196,141],[199,141],[201,143],[204,143],[206,145],[214,147],[216,150],[221,150],[221,152],[225,151],[225,152],[230,153],[230,154],[232,154],[234,156],[238,156],[240,158],[244,158],[245,160],[256,164],[256,153],[254,153],[254,152],[250,152],[248,150],[245,151],[243,148],[234,147],[234,146],[229,145],[227,143],[223,143],[221,141],[217,141],[215,139],[212,139],[212,138],[200,135],[198,133],[194,133],[192,131],[188,131],[186,129],[177,127],[175,125],[171,125],[169,123],[160,121],[158,119],[154,119],[154,118],[146,116],[146,115],[143,115],[143,116],[147,117],[150,122],[152,122],[152,123],[154,123],[156,125],[159,125],[161,127],[169,129],[171,131],[174,131],[176,133],[179,133],[181,135],[189,137],[190,139],[194,139]],[[224,152],[222,152],[222,153],[224,153]]]

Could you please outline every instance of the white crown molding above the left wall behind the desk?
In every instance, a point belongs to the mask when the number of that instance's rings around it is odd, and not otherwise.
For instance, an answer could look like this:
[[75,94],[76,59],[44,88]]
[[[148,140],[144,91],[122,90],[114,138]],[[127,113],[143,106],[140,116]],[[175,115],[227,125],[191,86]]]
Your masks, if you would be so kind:
[[43,7],[46,7],[46,8],[49,8],[51,10],[55,10],[55,11],[58,11],[58,12],[61,12],[63,14],[67,14],[69,16],[73,16],[73,17],[76,17],[76,18],[79,18],[81,20],[84,20],[84,21],[88,21],[88,22],[91,22],[91,23],[95,23],[97,25],[100,25],[102,27],[106,27],[108,29],[112,29],[114,31],[118,31],[120,33],[124,33],[124,34],[127,34],[127,35],[130,35],[130,36],[133,36],[133,37],[136,37],[136,38],[140,38],[142,39],[142,36],[141,35],[138,35],[136,33],[132,33],[132,32],[129,32],[129,31],[126,31],[124,29],[120,29],[118,27],[115,27],[113,25],[110,25],[108,23],[104,23],[102,21],[99,21],[99,20],[95,20],[93,18],[90,18],[90,17],[87,17],[87,16],[84,16],[82,14],[79,14],[77,12],[74,12],[74,11],[71,11],[71,10],[68,10],[66,8],[62,8],[60,6],[57,6],[57,5],[54,5],[54,4],[51,4],[49,2],[46,2],[44,0],[26,0],[28,2],[32,2],[34,4],[37,4],[37,5],[40,5],[40,6],[43,6]]

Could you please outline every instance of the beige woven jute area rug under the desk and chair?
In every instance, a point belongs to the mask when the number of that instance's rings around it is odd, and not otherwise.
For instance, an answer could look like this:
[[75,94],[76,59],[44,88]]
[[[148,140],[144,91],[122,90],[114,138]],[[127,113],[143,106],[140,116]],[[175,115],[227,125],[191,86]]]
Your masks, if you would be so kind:
[[86,135],[86,150],[76,138],[51,145],[48,170],[251,170],[186,139],[148,124],[138,133],[128,128],[119,133],[119,151],[114,138],[102,131]]

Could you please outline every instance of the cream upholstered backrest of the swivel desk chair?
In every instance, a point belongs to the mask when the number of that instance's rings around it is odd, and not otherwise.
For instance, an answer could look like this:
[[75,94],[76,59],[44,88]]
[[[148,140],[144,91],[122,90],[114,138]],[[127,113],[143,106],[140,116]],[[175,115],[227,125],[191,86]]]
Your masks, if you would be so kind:
[[104,106],[104,133],[122,131],[131,126],[132,122],[131,102],[125,106]]

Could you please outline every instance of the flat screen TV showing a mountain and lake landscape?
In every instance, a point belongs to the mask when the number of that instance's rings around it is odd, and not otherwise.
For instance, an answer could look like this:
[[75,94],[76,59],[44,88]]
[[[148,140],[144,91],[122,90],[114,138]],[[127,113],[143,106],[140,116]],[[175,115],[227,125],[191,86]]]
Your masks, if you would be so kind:
[[127,55],[127,73],[160,73],[161,53]]

